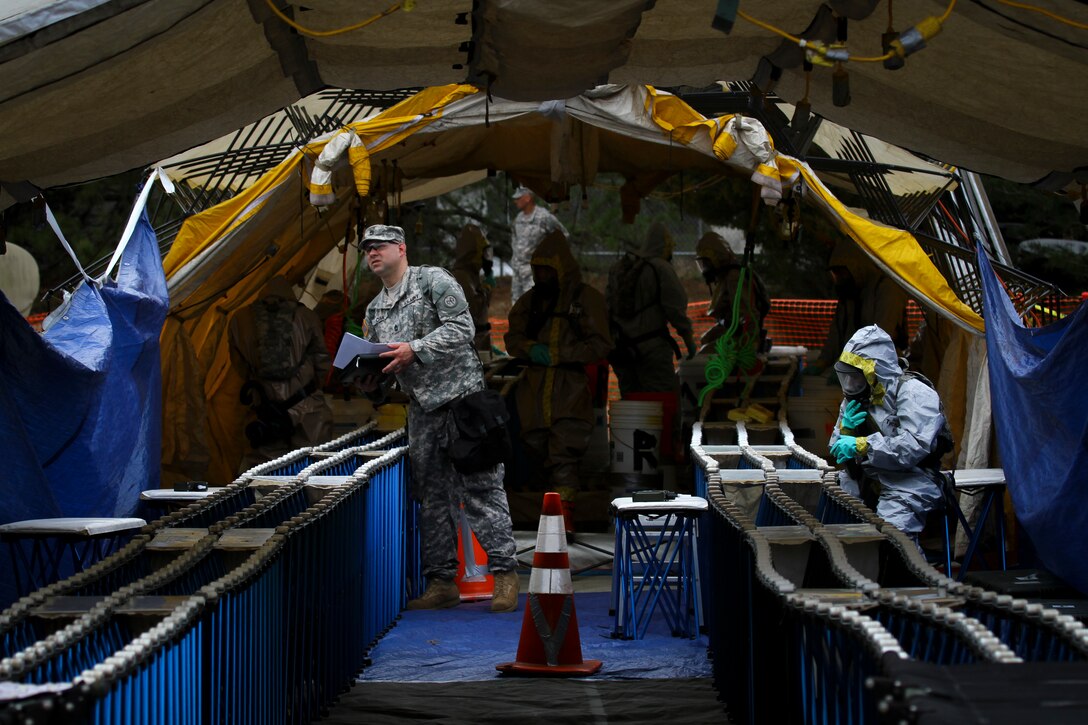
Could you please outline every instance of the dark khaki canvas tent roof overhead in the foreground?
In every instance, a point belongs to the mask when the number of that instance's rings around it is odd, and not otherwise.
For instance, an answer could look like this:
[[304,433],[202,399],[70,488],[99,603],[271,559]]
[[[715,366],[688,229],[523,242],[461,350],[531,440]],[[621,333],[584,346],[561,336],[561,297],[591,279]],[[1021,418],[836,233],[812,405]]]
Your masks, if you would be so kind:
[[[730,4],[763,25],[735,15],[715,29]],[[863,61],[889,26],[930,17],[941,32],[905,67]],[[323,87],[461,82],[534,101],[601,83],[776,83],[790,102],[957,167],[1083,183],[1086,24],[1088,5],[1066,0],[9,0],[0,208],[166,158]],[[783,33],[848,37],[849,106],[832,102],[833,69],[806,83],[805,51]]]

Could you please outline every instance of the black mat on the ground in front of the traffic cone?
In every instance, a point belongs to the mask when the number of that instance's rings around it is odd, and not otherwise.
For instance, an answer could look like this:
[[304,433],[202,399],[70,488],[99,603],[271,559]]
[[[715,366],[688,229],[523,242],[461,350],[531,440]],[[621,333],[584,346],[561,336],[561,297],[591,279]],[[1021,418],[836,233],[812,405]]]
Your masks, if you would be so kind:
[[728,723],[709,679],[358,683],[322,723]]

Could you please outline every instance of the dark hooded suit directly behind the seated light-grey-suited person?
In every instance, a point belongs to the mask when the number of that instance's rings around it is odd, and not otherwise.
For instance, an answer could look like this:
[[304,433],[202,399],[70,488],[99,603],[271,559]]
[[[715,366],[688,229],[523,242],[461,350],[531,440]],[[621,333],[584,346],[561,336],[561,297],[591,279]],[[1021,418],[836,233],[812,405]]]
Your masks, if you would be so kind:
[[850,278],[837,281],[839,304],[834,308],[827,342],[820,351],[817,368],[827,368],[838,359],[845,341],[866,324],[885,330],[898,349],[905,349],[906,293],[881,272],[853,242],[840,242],[828,260],[828,269],[842,268]]

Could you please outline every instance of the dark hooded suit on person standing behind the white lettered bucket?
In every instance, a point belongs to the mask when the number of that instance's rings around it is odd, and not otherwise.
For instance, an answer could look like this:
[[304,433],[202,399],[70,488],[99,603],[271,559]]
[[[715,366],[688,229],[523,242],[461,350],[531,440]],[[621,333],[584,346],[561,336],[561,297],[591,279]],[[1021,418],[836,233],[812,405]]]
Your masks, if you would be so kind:
[[684,341],[689,357],[695,337],[688,318],[688,293],[669,263],[672,239],[662,224],[650,229],[642,247],[608,272],[608,316],[616,349],[609,361],[622,395],[678,390],[673,355],[680,349],[669,324]]

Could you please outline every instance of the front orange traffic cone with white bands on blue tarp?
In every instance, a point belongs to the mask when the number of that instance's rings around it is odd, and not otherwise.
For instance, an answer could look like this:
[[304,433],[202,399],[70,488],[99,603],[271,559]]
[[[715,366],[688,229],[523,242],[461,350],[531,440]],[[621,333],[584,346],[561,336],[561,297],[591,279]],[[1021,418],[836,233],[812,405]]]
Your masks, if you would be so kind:
[[558,493],[544,494],[517,658],[517,662],[495,668],[504,674],[558,677],[592,675],[601,669],[599,660],[582,660]]

